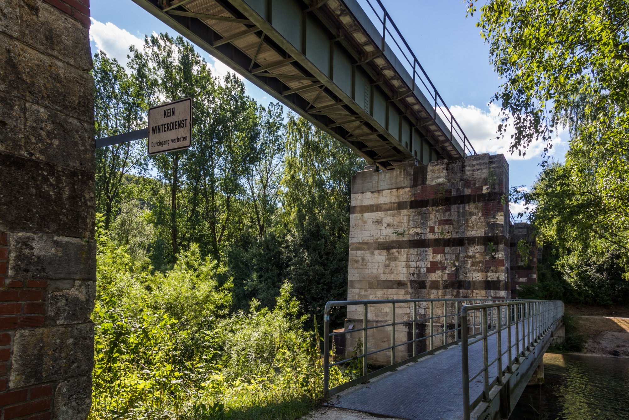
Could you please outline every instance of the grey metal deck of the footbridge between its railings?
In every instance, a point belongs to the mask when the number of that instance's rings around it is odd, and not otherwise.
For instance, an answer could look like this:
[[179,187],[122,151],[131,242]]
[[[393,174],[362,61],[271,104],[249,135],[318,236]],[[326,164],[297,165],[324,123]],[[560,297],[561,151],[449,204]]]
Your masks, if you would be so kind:
[[[520,343],[521,343],[520,323]],[[515,338],[515,326],[511,327]],[[489,360],[496,359],[496,335],[487,339]],[[507,331],[501,336],[502,351],[508,348]],[[512,349],[515,356],[515,339]],[[489,382],[496,378],[498,363],[489,366]],[[469,346],[470,378],[482,369],[482,341]],[[508,366],[508,354],[503,355]],[[410,420],[462,419],[460,344],[404,365],[331,397],[329,406]],[[482,375],[470,382],[470,400],[482,394]]]

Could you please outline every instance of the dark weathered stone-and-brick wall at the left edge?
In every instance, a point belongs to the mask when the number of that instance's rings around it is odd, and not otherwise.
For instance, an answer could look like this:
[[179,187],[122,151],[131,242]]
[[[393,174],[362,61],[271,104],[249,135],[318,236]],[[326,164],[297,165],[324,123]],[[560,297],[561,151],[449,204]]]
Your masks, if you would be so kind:
[[0,0],[0,418],[91,405],[88,0]]

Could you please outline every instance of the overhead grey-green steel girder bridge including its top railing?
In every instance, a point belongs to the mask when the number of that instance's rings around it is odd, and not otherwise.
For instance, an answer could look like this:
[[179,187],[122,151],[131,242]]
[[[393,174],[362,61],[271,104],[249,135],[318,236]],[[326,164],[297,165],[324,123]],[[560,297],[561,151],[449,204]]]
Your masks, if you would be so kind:
[[476,154],[380,0],[133,1],[381,169]]

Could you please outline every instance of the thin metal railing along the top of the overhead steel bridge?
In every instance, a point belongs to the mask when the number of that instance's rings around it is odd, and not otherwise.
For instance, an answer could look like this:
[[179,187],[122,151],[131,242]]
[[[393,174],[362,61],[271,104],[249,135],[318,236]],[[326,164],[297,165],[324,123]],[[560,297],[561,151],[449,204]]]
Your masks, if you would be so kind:
[[[411,91],[414,92],[415,86],[417,86],[420,89],[421,93],[426,96],[426,98],[431,99],[431,103],[434,105],[434,108],[432,110],[433,118],[437,120],[437,116],[440,116],[442,120],[445,121],[446,125],[449,125],[450,141],[454,139],[459,141],[460,144],[463,145],[464,154],[476,154],[476,150],[474,150],[474,146],[470,144],[470,140],[467,138],[467,135],[465,135],[463,128],[461,128],[457,120],[454,118],[454,115],[452,115],[452,111],[450,111],[450,108],[448,108],[448,105],[445,103],[442,96],[437,91],[437,88],[435,88],[435,85],[430,80],[430,77],[428,77],[428,74],[421,66],[420,61],[415,56],[413,50],[411,50],[411,47],[408,45],[408,42],[406,42],[406,39],[404,39],[402,33],[398,29],[398,26],[391,19],[391,15],[384,7],[384,4],[382,4],[382,1],[359,1],[360,3],[366,3],[369,6],[371,11],[375,14],[377,21],[379,21],[380,25],[382,25],[382,45],[380,46],[381,50],[384,52],[388,39],[394,43],[394,45],[400,52],[399,55],[401,55],[401,57],[399,57],[398,54],[396,54],[396,56],[398,56],[398,59],[403,58],[403,61],[401,61],[402,64],[413,77],[413,86],[411,86]],[[375,6],[374,3],[376,4]],[[365,9],[365,11],[369,12],[368,9]],[[374,24],[377,25],[377,22],[374,21]],[[391,31],[391,28],[393,28],[393,31]]]

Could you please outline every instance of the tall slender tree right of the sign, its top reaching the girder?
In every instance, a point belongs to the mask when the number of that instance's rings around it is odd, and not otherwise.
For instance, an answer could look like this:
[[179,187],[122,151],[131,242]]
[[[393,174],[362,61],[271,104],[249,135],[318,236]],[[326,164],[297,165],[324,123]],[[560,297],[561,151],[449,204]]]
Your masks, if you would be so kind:
[[232,73],[216,84],[205,103],[206,113],[198,119],[198,145],[189,150],[186,164],[191,216],[187,225],[189,239],[220,260],[245,213],[244,178],[259,159],[259,118],[257,104]]

